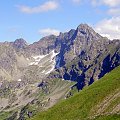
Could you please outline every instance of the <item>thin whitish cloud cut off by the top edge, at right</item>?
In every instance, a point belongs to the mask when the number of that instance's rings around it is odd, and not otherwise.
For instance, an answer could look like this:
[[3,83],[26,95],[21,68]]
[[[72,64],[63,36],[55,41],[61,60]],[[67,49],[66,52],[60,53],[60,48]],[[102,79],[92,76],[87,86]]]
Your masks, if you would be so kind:
[[104,4],[110,7],[116,7],[120,5],[120,0],[91,0],[93,5]]

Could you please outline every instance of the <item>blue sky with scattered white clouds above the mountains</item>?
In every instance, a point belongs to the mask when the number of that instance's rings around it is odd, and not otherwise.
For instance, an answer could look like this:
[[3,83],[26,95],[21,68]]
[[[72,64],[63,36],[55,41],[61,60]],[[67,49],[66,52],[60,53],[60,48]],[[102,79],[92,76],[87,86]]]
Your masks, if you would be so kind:
[[1,0],[0,42],[28,43],[87,23],[111,39],[120,38],[120,0]]

